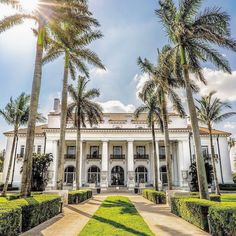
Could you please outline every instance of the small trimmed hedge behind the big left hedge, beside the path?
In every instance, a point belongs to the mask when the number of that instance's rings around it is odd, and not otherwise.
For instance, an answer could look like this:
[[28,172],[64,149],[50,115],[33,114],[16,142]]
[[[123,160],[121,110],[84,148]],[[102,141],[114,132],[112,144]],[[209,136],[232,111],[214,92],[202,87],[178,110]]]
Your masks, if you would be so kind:
[[69,192],[69,195],[68,195],[68,203],[69,204],[78,204],[78,203],[84,202],[87,199],[91,198],[92,195],[93,195],[93,193],[92,193],[92,190],[90,190],[90,189],[71,191],[71,192]]

